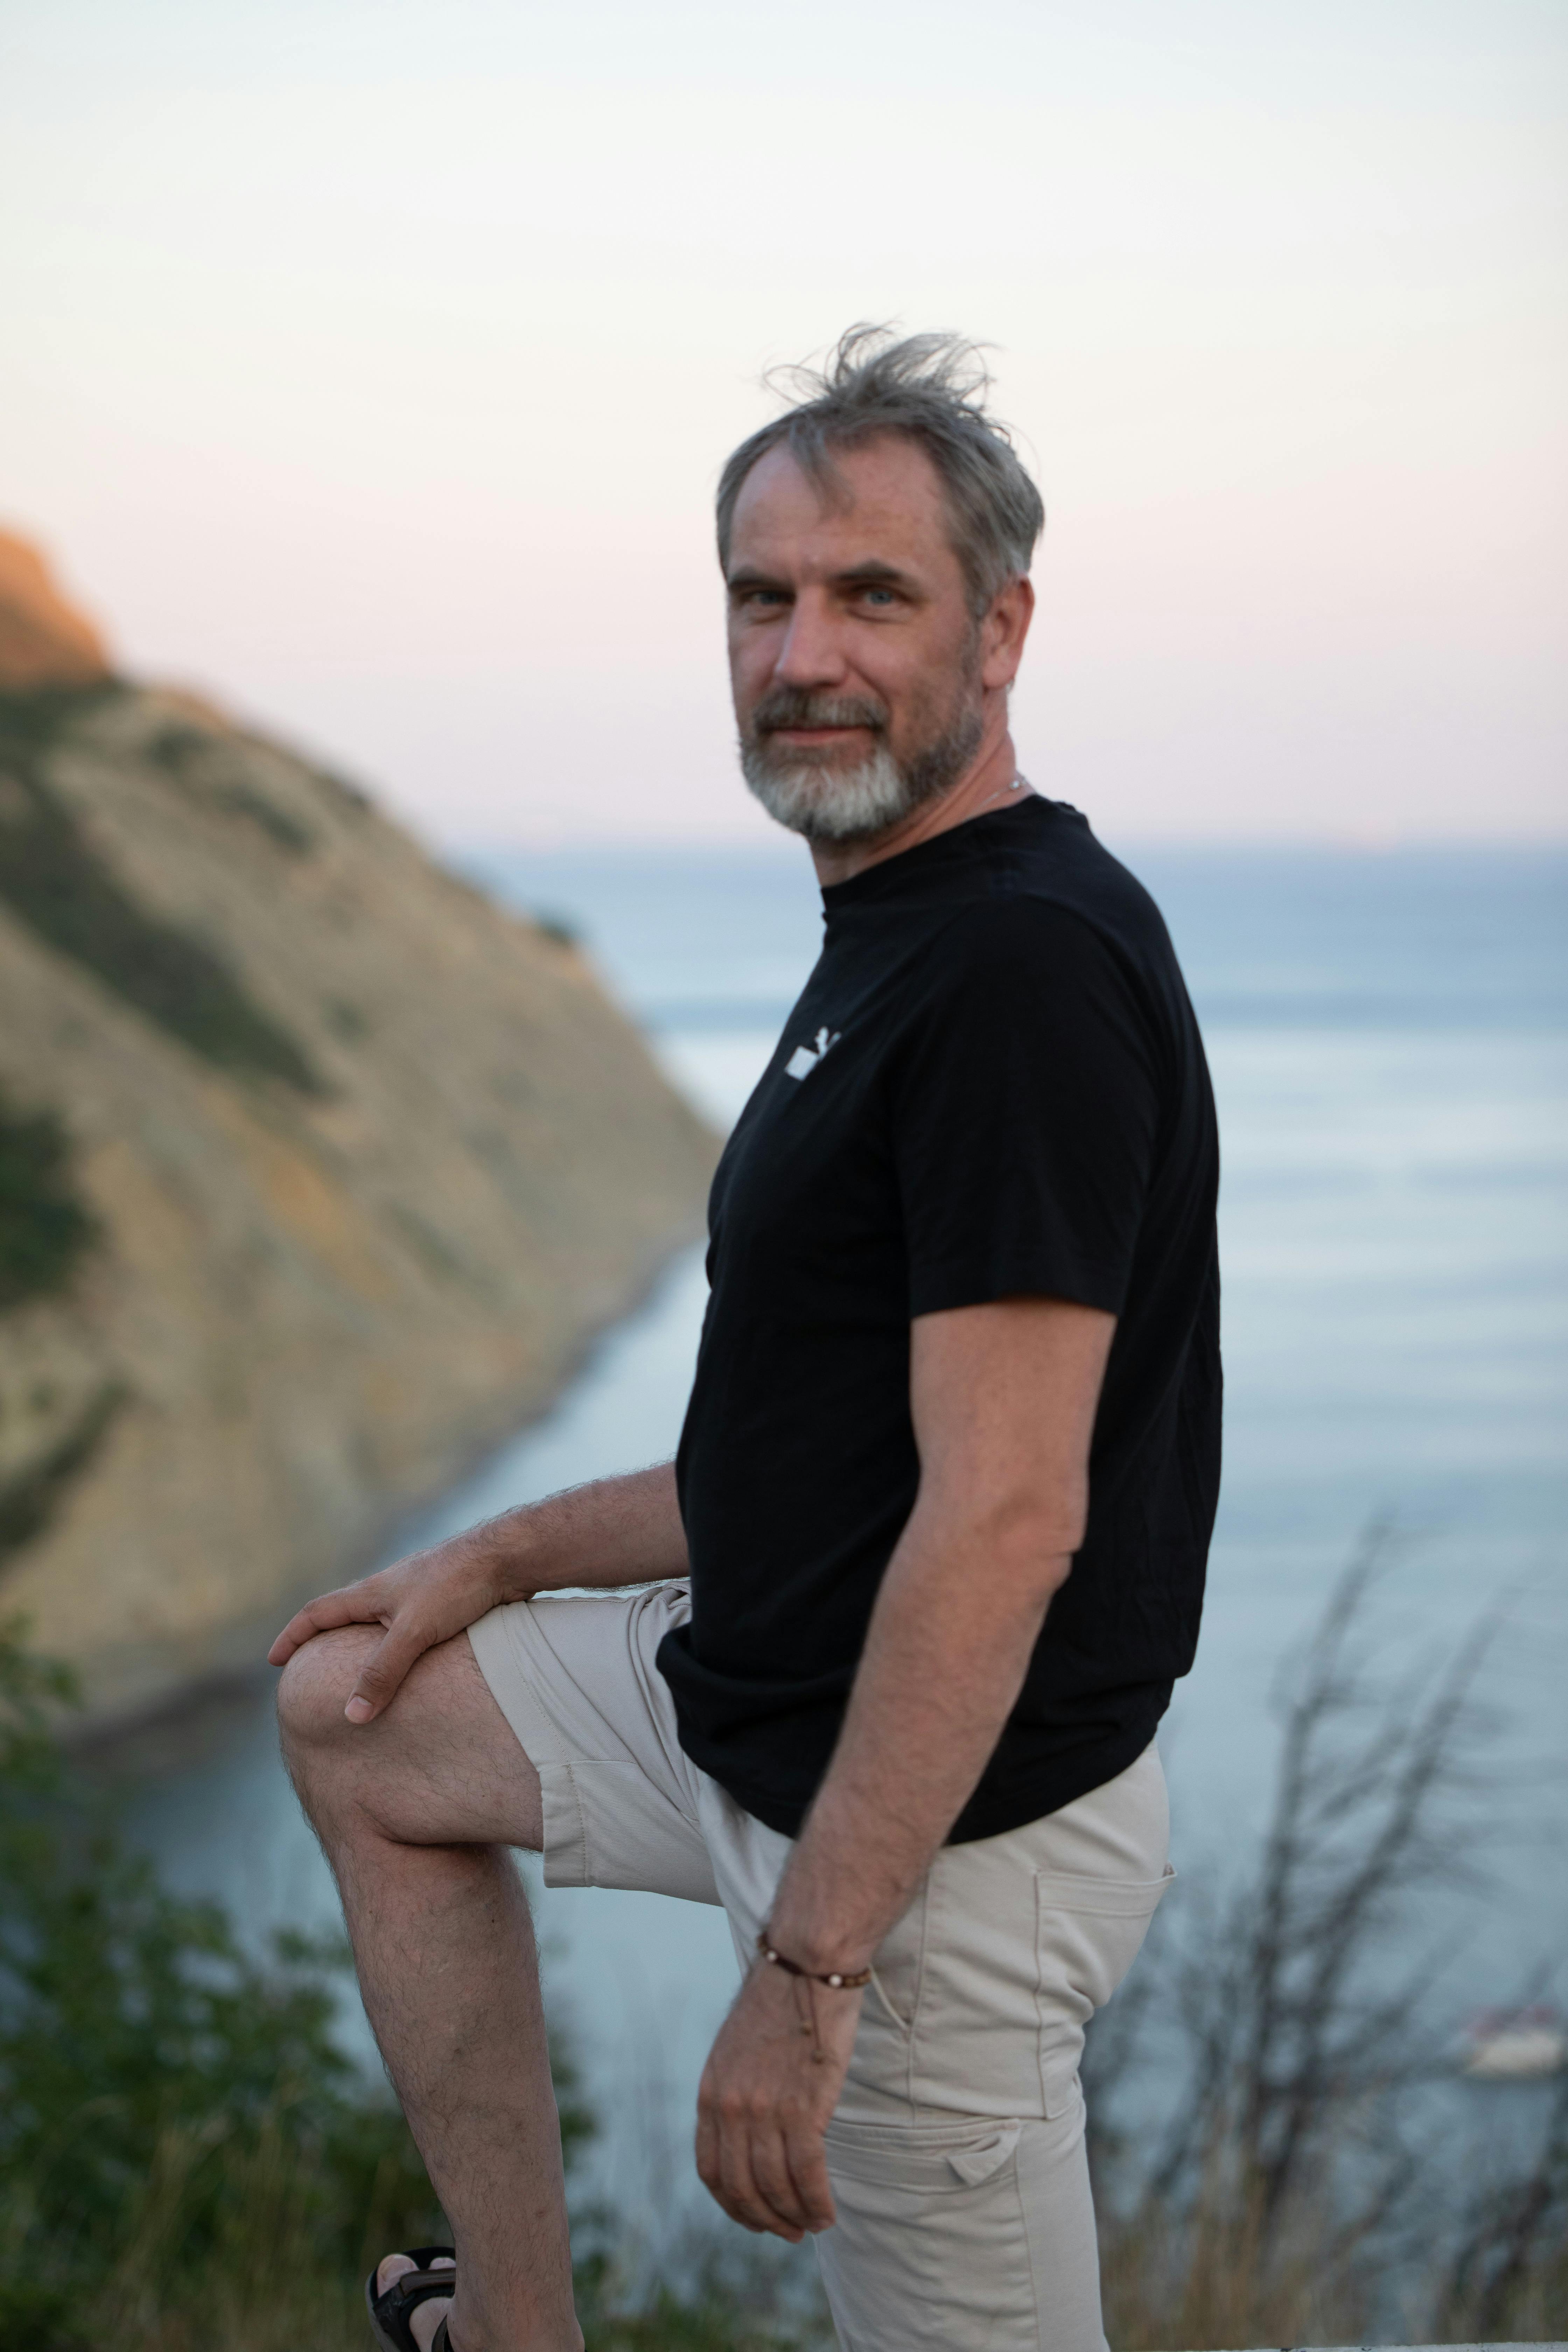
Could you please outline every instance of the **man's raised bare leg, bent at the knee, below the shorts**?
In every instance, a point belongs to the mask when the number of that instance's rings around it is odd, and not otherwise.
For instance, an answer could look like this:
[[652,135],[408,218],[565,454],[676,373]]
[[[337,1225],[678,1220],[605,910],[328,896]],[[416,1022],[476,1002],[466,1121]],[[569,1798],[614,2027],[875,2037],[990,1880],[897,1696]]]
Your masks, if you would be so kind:
[[[425,1651],[395,1703],[343,1703],[378,1628],[308,1642],[277,1719],[343,1893],[360,1992],[451,2220],[454,2352],[581,2352],[559,2122],[529,1905],[508,1846],[538,1846],[538,1776],[468,1635]],[[442,2305],[414,2314],[435,2333]]]

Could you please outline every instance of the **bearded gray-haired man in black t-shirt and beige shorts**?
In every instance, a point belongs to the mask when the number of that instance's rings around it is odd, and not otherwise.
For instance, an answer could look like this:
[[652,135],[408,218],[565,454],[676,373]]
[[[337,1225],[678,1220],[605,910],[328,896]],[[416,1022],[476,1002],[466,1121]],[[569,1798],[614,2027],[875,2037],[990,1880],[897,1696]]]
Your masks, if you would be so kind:
[[1044,515],[983,390],[853,329],[719,482],[741,760],[825,948],[715,1178],[677,1461],[273,1649],[456,2232],[381,2265],[390,2345],[581,2345],[527,1846],[724,1903],[698,2171],[820,2232],[849,2352],[1103,2352],[1077,2060],[1168,1879],[1218,1148],[1154,906],[1018,774]]

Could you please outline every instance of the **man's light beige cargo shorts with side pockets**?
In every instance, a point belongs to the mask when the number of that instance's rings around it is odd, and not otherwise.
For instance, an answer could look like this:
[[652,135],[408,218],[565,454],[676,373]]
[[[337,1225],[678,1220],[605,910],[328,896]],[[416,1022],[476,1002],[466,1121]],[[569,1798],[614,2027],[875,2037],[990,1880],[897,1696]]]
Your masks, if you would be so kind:
[[[722,1903],[745,1969],[790,1839],[684,1755],[654,1656],[684,1585],[470,1628],[543,1788],[545,1884]],[[1105,2352],[1079,2053],[1171,1884],[1150,1745],[1060,1813],[943,1846],[877,1950],[816,2239],[844,2352]]]

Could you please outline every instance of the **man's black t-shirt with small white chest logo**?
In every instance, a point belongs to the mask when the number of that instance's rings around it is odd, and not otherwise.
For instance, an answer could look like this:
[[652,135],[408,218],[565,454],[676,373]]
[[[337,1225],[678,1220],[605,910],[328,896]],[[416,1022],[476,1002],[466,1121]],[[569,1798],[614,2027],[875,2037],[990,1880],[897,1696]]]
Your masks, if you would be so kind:
[[823,891],[825,943],[719,1162],[677,1479],[686,1755],[790,1837],[919,1484],[910,1319],[1117,1315],[1088,1531],[952,1839],[1124,1771],[1192,1665],[1220,1489],[1218,1136],[1147,891],[1060,802]]

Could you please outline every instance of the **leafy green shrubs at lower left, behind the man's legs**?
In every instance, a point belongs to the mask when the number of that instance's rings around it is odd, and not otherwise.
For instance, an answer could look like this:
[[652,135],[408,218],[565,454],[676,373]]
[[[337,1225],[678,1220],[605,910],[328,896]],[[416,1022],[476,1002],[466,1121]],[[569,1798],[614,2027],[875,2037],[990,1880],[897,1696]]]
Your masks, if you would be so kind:
[[[28,2352],[357,2352],[362,2279],[447,2225],[397,2103],[343,2056],[346,1950],[263,1964],[127,1853],[61,1759],[71,1675],[0,1625],[0,2343]],[[592,2136],[555,2053],[567,2164]],[[590,2352],[792,2352],[776,2279],[623,2286],[578,2265]]]

